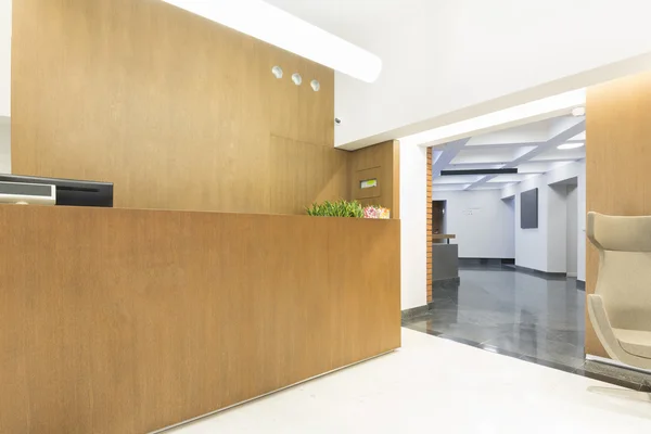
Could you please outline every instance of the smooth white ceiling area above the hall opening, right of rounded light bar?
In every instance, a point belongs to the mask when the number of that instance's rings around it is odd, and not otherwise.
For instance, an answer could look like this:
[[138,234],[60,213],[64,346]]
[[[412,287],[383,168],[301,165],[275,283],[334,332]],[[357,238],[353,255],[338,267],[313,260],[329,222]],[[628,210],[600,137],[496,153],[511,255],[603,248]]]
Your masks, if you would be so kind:
[[372,85],[335,74],[348,150],[651,66],[649,0],[267,1],[382,59]]

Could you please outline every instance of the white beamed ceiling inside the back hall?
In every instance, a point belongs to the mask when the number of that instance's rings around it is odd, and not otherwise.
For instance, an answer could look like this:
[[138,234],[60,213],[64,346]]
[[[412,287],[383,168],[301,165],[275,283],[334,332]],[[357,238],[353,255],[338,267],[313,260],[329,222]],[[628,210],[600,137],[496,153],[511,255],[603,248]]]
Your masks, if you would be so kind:
[[[585,117],[561,116],[433,146],[434,191],[502,189],[586,156]],[[518,168],[518,174],[441,176],[441,170]]]

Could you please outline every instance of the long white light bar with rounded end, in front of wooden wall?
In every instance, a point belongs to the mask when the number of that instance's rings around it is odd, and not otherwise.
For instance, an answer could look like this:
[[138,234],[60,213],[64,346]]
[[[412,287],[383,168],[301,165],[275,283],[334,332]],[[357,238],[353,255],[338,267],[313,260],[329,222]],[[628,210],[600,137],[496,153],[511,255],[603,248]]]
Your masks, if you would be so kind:
[[261,0],[163,0],[367,82],[382,60]]

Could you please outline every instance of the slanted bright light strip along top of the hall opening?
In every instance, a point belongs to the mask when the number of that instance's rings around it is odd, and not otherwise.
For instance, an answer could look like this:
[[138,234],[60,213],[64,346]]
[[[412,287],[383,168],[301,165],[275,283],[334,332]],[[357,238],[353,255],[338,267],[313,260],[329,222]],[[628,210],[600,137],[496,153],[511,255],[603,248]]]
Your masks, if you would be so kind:
[[[513,107],[500,110],[486,115],[461,120],[444,127],[434,128],[427,131],[407,136],[399,139],[403,145],[413,144],[438,144],[446,143],[456,139],[462,139],[477,133],[486,132],[502,126],[506,128],[509,124],[519,120],[527,120],[541,115],[560,116],[564,112],[570,114],[572,108],[585,105],[586,90],[573,90],[542,100],[532,101],[526,104],[515,105]],[[559,113],[561,112],[561,113]],[[529,120],[533,122],[533,120]]]

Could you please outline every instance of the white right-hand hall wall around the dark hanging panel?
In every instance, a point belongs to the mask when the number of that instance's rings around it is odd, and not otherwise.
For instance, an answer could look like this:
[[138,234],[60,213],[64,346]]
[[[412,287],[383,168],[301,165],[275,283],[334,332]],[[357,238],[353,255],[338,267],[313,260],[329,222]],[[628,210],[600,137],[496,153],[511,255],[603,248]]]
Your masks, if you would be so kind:
[[[567,190],[566,186],[551,184],[577,178],[577,278],[585,280],[585,233],[582,235],[585,227],[585,162],[580,161],[502,189],[502,197],[515,195],[515,265],[547,272],[566,272]],[[521,229],[520,193],[534,188],[538,189],[538,228]]]

